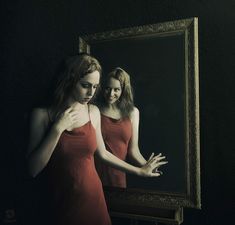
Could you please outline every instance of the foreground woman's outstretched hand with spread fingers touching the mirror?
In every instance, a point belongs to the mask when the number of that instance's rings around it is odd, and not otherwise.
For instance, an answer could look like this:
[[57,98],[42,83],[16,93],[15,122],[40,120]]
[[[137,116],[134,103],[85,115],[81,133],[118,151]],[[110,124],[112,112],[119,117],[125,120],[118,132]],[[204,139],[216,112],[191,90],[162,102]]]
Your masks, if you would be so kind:
[[165,159],[165,156],[162,156],[161,153],[154,156],[154,153],[151,154],[148,161],[144,166],[141,167],[141,176],[144,177],[158,177],[162,174],[161,171],[158,170],[158,168],[162,165],[165,165],[168,163],[168,161],[163,161]]

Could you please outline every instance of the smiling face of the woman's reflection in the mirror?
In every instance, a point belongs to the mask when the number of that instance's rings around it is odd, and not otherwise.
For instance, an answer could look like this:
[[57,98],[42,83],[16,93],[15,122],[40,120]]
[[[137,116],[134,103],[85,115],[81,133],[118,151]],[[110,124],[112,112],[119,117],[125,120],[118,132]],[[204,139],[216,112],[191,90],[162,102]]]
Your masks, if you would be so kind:
[[122,87],[119,80],[111,77],[106,83],[104,98],[109,104],[114,104],[122,94]]

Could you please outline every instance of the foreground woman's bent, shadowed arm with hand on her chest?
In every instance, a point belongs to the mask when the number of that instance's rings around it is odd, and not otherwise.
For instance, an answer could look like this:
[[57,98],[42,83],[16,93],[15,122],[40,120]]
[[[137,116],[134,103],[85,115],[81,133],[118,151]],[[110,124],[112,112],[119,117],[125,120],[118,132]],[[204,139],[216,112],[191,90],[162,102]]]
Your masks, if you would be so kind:
[[78,121],[77,112],[70,107],[48,130],[49,119],[46,109],[33,110],[27,154],[31,176],[35,177],[43,170],[50,160],[62,132],[76,121]]

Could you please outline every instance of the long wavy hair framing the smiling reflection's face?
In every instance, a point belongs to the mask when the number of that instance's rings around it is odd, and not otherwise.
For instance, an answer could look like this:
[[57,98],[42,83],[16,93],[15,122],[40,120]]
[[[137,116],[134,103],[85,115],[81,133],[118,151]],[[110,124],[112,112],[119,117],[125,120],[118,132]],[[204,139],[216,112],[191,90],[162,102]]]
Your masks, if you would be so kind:
[[130,75],[120,67],[116,67],[110,73],[108,73],[107,76],[105,76],[102,82],[102,93],[100,94],[98,104],[101,107],[105,107],[107,105],[107,102],[104,98],[104,91],[110,78],[114,78],[120,81],[122,93],[120,98],[117,100],[117,107],[120,110],[123,118],[130,117],[130,114],[134,109],[133,89],[131,86]]

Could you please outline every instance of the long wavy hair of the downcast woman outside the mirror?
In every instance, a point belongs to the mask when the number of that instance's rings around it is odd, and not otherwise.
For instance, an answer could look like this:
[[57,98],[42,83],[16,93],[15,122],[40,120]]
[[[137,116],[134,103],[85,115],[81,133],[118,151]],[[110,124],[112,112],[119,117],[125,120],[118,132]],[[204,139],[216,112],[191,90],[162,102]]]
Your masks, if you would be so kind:
[[97,59],[86,53],[71,56],[63,62],[50,101],[53,117],[68,107],[68,100],[76,91],[78,81],[94,71],[101,75],[101,65]]

